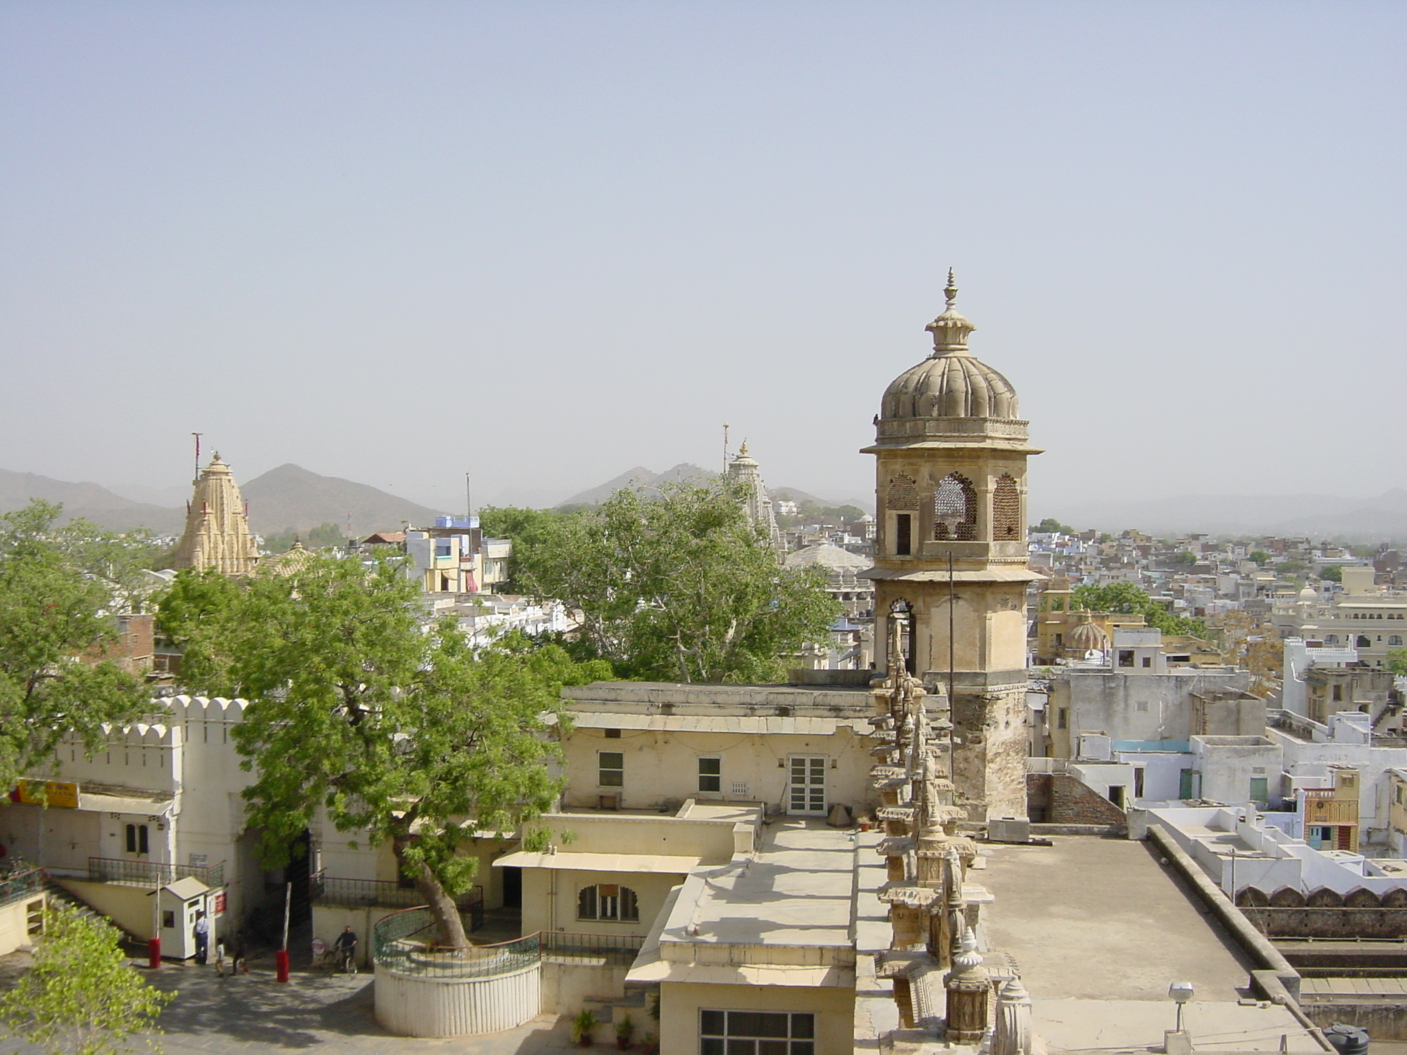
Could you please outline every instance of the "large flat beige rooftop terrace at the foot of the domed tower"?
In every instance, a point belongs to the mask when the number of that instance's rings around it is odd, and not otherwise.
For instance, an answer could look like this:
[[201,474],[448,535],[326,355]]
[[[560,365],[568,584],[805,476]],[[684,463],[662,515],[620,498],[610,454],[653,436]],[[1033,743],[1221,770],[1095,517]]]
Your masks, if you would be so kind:
[[1196,1051],[1317,1052],[1285,1007],[1249,1006],[1252,964],[1159,864],[1120,838],[1055,837],[1052,847],[992,845],[979,881],[993,950],[1016,959],[1034,1028],[1054,1051],[1140,1051],[1173,1025],[1168,985],[1192,982],[1186,1028]]

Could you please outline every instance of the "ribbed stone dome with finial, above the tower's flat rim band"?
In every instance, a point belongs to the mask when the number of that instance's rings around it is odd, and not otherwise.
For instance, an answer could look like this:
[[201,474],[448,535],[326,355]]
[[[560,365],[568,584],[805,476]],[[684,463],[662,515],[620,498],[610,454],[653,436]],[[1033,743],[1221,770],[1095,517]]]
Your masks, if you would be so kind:
[[927,325],[933,333],[933,354],[885,388],[879,416],[1019,418],[1012,383],[968,352],[967,336],[976,326],[954,307],[958,291],[953,271],[948,271],[944,293],[947,308]]

